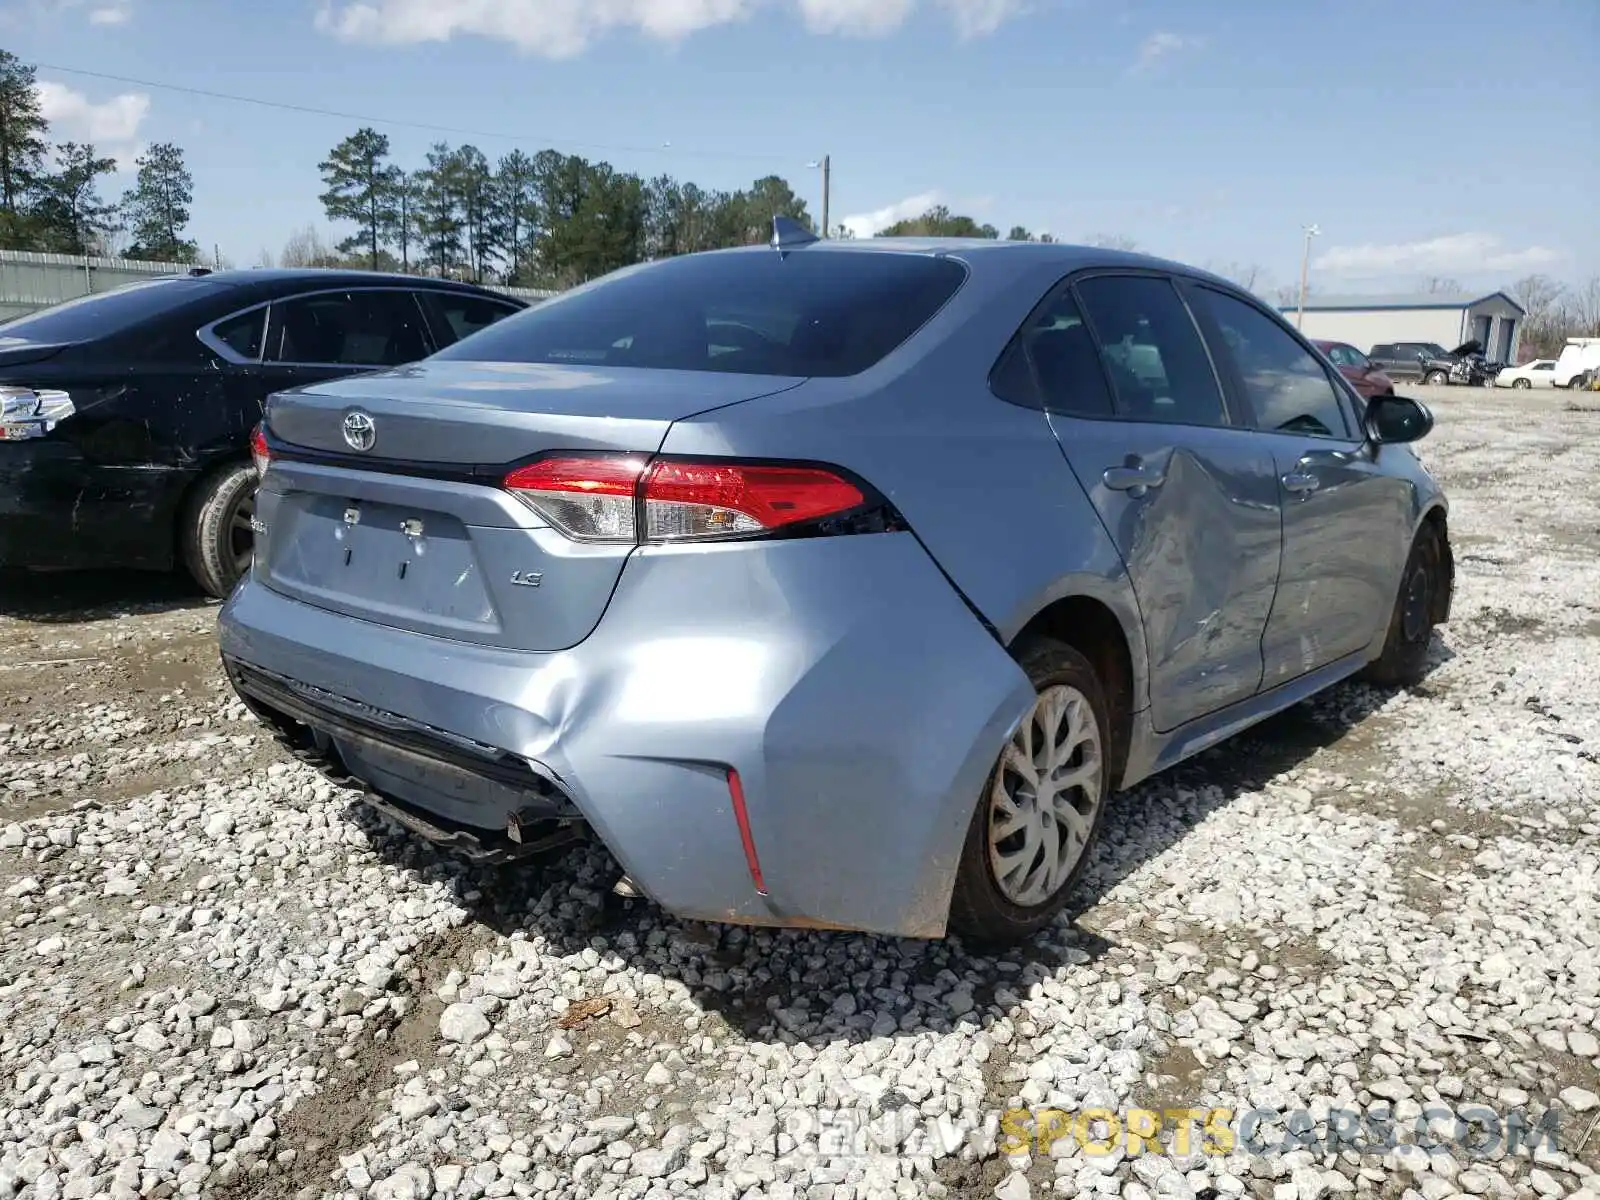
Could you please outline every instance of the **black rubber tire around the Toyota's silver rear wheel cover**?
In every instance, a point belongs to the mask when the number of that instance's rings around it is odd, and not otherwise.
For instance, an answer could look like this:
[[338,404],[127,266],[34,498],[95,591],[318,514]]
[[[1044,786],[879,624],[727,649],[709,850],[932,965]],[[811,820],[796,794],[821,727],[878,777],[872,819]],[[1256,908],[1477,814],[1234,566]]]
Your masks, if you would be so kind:
[[[992,946],[1005,946],[1030,938],[1056,918],[1056,914],[1066,906],[1072,888],[1083,874],[1085,864],[1090,861],[1112,789],[1110,706],[1106,699],[1106,688],[1094,674],[1094,667],[1090,666],[1090,661],[1082,653],[1054,638],[1029,640],[1018,648],[1018,662],[1034,682],[1037,693],[1043,694],[1051,688],[1064,686],[1077,691],[1086,701],[1093,712],[1094,731],[1098,734],[1101,770],[1099,784],[1093,797],[1090,797],[1088,787],[1075,789],[1085,798],[1085,803],[1093,805],[1093,813],[1085,814],[1088,834],[1083,838],[1082,850],[1070,872],[1038,902],[1018,904],[1006,896],[997,880],[989,854],[990,821],[995,814],[992,797],[997,784],[1003,786],[1005,755],[995,762],[994,771],[990,771],[989,779],[984,782],[984,792],[979,797],[973,821],[966,830],[966,842],[962,846],[962,859],[955,874],[955,890],[950,896],[949,920],[952,933],[958,933],[973,942]],[[1034,720],[1035,714],[1029,714],[1024,723],[1032,725]],[[1037,726],[1034,728],[1037,730]],[[1074,747],[1074,760],[1077,758],[1078,749]],[[1082,770],[1083,765],[1085,762],[1069,760],[1058,768],[1058,773]],[[1074,805],[1074,808],[1082,813],[1078,805]],[[1061,826],[1053,827],[1061,829]],[[998,845],[1003,848],[1005,840]]]

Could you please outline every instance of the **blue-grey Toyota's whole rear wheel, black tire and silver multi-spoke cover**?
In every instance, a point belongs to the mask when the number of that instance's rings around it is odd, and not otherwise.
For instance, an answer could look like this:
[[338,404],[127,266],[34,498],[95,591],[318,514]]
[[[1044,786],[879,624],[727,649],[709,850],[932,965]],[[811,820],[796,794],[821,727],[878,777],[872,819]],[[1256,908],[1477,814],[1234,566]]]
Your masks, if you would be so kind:
[[1006,742],[966,830],[950,928],[1014,942],[1050,925],[1083,872],[1110,794],[1110,712],[1094,667],[1037,638],[1018,656],[1034,709]]

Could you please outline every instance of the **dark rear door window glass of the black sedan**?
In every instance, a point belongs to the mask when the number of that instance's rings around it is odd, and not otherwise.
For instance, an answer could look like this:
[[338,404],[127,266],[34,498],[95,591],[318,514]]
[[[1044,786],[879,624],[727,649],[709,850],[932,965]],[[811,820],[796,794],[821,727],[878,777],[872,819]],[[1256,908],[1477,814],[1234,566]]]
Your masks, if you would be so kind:
[[272,304],[267,362],[322,366],[402,366],[432,352],[410,291],[320,291]]

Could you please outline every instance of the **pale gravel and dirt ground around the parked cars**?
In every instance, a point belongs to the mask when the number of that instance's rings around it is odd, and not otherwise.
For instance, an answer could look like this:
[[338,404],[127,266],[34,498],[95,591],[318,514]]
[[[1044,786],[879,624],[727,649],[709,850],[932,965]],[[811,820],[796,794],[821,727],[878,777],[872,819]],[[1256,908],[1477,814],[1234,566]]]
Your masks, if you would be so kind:
[[[230,701],[211,606],[0,582],[0,1200],[1592,1200],[1600,400],[1432,398],[1429,680],[1120,797],[1006,958],[443,861]],[[1098,1154],[1018,1107],[1275,1115]]]

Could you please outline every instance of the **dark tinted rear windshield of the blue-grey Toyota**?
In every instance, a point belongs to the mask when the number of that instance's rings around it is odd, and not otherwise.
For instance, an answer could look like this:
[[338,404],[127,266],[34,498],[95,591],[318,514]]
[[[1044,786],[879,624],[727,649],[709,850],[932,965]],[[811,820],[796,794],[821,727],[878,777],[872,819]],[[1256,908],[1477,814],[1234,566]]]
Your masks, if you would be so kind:
[[734,251],[621,270],[464,338],[437,358],[730,374],[867,370],[966,269],[902,253]]

